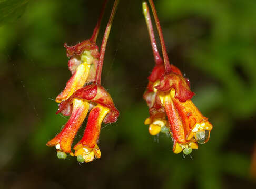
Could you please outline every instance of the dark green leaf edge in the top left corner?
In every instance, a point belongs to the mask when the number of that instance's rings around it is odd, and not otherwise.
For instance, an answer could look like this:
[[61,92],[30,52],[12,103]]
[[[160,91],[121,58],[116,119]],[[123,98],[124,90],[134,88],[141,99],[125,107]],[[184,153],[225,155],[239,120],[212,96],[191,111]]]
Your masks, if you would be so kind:
[[0,0],[0,26],[21,17],[29,0]]

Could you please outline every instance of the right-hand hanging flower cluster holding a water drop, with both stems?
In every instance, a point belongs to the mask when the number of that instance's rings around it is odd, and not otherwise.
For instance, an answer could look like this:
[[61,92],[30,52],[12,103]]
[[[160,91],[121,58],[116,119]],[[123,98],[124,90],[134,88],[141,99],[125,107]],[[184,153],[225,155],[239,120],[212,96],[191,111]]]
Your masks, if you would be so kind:
[[145,120],[145,124],[150,125],[151,135],[166,133],[169,130],[174,142],[173,152],[183,151],[188,155],[192,149],[198,149],[198,143],[203,144],[209,140],[212,125],[190,100],[194,93],[190,90],[188,79],[182,76],[178,68],[169,64],[162,30],[152,0],[150,4],[159,31],[164,61],[158,53],[149,8],[144,2],[143,12],[156,62],[143,95],[150,108],[150,117]]

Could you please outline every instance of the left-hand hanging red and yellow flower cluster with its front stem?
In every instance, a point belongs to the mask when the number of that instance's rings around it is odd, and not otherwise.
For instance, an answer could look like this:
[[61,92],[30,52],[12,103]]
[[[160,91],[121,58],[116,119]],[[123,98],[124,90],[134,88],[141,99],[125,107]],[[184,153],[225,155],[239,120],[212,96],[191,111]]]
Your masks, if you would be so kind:
[[[47,143],[48,146],[56,147],[58,158],[65,159],[66,153],[77,156],[79,162],[90,162],[95,157],[100,158],[101,152],[97,142],[101,123],[116,122],[119,116],[119,111],[115,108],[110,94],[101,86],[106,43],[118,3],[119,0],[115,0],[100,53],[98,53],[95,44],[95,35],[97,35],[95,30],[90,40],[72,47],[66,46],[67,56],[71,57],[68,67],[73,76],[68,81],[64,91],[56,98],[56,101],[60,102],[57,114],[62,113],[64,116],[70,116],[70,119],[63,130]],[[98,27],[97,25],[96,28]],[[73,153],[71,150],[72,142],[88,111],[90,113],[84,136],[74,146],[75,153]]]

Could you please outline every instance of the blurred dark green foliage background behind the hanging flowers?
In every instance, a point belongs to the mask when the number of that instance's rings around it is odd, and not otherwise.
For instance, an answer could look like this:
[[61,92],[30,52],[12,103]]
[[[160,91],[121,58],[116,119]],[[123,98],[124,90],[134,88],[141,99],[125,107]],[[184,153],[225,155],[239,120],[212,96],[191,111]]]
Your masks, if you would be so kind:
[[[191,156],[144,125],[154,66],[141,1],[120,1],[103,86],[120,110],[103,125],[102,158],[60,160],[46,142],[67,121],[55,97],[71,74],[63,43],[90,38],[101,1],[0,1],[0,188],[254,188],[256,1],[155,1],[169,59],[190,79],[214,128]],[[109,1],[98,45],[109,18]],[[83,134],[84,125],[76,140]]]

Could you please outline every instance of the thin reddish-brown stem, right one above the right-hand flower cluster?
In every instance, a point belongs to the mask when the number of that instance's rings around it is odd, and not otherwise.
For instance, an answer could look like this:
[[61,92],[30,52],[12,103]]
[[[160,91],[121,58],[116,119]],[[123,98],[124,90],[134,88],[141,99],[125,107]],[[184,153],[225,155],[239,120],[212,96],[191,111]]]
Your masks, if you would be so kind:
[[153,0],[149,0],[149,2],[150,2],[150,6],[151,6],[151,9],[152,9],[154,18],[155,18],[155,24],[156,24],[156,27],[157,27],[157,31],[158,31],[158,34],[159,34],[159,37],[160,37],[160,42],[161,42],[161,46],[162,46],[162,53],[163,53],[163,58],[164,58],[165,71],[170,72],[171,71],[171,65],[169,63],[168,54],[167,54],[167,50],[166,50],[165,43],[164,43],[164,38],[163,38],[163,32],[162,32],[162,29],[161,29],[161,26],[160,26],[159,19],[157,17],[157,13],[156,13],[156,10],[155,10],[155,5],[154,5]]

